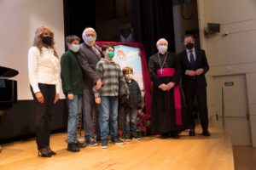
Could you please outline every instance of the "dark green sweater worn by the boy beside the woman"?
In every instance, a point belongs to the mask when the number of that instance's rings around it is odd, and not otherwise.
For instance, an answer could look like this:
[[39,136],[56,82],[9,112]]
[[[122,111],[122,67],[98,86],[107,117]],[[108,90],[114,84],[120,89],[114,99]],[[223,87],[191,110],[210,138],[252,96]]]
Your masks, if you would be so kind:
[[61,81],[64,94],[83,94],[83,73],[71,50],[61,56]]

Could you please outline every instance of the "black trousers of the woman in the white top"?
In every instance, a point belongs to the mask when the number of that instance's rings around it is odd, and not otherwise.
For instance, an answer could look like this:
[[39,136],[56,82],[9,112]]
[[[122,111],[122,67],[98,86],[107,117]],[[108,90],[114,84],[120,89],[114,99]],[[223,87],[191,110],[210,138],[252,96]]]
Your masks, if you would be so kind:
[[55,104],[55,85],[38,83],[41,93],[44,95],[44,103],[38,102],[36,95],[33,93],[32,96],[35,100],[34,105],[36,105],[35,111],[35,126],[36,126],[36,141],[38,144],[38,150],[49,146],[49,134],[50,134],[50,124],[51,116],[54,113]]

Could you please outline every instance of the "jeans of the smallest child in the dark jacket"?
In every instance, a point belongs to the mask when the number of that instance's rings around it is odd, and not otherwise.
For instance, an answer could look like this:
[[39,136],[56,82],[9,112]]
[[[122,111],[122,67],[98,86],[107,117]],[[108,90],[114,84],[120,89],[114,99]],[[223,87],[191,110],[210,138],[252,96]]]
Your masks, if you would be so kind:
[[137,132],[137,107],[131,107],[125,111],[125,133]]

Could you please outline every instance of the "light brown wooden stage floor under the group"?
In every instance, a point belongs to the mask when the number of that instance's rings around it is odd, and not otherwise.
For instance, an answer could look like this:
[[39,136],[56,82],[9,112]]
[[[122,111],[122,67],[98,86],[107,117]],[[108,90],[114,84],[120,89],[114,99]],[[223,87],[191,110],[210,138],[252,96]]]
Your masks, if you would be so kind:
[[[196,132],[201,132],[196,129]],[[131,141],[124,145],[109,144],[86,147],[78,153],[67,151],[67,133],[51,135],[51,147],[57,152],[51,158],[38,157],[35,139],[3,144],[0,169],[172,169],[233,170],[234,159],[229,137],[210,128],[211,137],[183,132],[180,139],[159,139],[158,136]]]

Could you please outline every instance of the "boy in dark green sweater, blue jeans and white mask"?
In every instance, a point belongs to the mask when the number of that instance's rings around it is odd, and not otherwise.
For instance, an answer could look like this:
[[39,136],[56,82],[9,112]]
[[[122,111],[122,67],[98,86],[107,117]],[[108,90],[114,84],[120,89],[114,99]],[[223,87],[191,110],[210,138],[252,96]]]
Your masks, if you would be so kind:
[[67,52],[61,56],[61,81],[63,93],[67,98],[67,150],[78,152],[86,144],[77,139],[79,113],[83,94],[83,74],[77,60],[80,38],[74,35],[66,37]]

